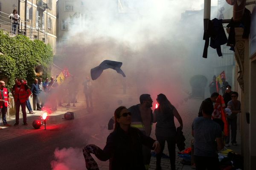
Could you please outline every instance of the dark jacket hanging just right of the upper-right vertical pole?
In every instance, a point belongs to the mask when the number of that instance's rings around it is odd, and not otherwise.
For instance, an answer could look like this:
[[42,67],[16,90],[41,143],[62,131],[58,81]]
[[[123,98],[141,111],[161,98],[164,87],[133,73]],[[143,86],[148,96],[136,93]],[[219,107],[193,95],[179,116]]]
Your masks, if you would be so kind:
[[214,18],[212,20],[212,34],[210,37],[210,47],[216,49],[219,57],[222,56],[221,45],[227,43],[227,36],[222,26],[222,20]]

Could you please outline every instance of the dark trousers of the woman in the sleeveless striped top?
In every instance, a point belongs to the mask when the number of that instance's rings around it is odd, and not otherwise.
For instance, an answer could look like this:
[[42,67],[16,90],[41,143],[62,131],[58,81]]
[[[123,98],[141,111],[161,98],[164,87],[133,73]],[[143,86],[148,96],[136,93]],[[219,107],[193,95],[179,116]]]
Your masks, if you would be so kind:
[[166,137],[166,136],[156,136],[157,137],[157,141],[160,143],[160,153],[157,153],[157,162],[156,162],[156,166],[160,167],[161,165],[161,158],[163,155],[163,150],[164,150],[164,146],[165,146],[165,142],[167,142],[168,145],[168,151],[169,151],[169,159],[170,159],[170,163],[171,163],[171,169],[175,170],[175,156],[176,156],[176,152],[175,152],[175,147],[176,147],[176,142],[175,142],[175,138],[174,137]]

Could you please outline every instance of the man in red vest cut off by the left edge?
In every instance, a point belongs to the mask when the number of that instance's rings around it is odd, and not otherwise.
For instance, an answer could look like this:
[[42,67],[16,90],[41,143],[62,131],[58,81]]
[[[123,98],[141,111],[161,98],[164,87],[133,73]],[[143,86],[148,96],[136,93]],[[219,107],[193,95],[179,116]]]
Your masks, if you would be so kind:
[[[3,126],[11,126],[6,121],[7,108],[10,107],[9,92],[6,88],[5,82],[0,81],[0,115],[2,115]],[[0,127],[0,130],[2,128]]]

